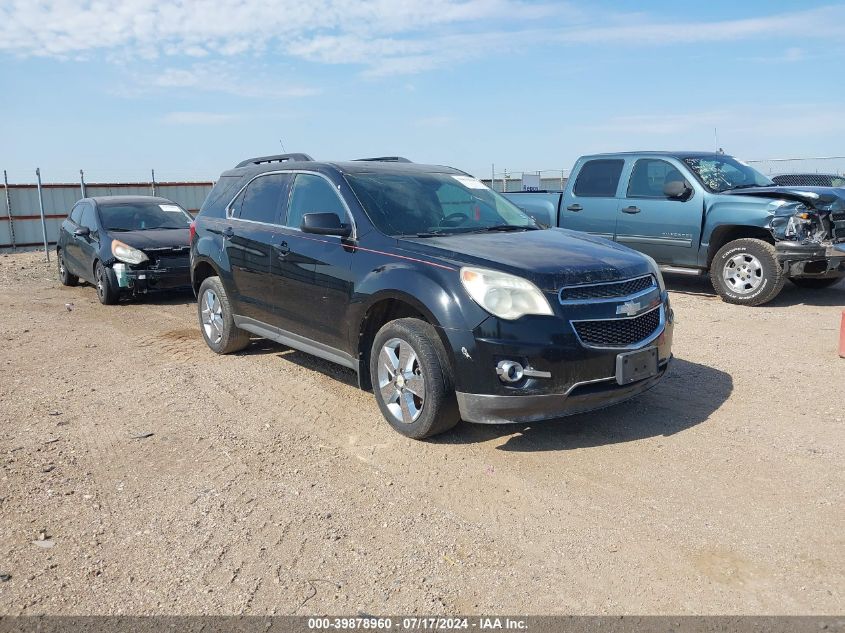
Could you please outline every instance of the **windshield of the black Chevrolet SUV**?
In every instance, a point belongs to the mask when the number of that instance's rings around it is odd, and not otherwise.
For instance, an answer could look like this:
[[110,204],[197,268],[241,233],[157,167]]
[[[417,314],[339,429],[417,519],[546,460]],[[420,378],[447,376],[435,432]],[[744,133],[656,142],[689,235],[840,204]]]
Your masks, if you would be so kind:
[[347,174],[346,180],[370,220],[387,235],[539,228],[512,202],[463,174],[361,173]]

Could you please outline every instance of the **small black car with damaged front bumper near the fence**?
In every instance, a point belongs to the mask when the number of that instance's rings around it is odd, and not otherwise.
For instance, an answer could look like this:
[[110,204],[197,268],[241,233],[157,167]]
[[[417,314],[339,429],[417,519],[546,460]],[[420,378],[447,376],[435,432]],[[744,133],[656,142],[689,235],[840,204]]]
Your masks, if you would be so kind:
[[59,278],[97,289],[100,303],[153,290],[190,287],[191,215],[153,196],[102,196],[77,202],[59,230]]

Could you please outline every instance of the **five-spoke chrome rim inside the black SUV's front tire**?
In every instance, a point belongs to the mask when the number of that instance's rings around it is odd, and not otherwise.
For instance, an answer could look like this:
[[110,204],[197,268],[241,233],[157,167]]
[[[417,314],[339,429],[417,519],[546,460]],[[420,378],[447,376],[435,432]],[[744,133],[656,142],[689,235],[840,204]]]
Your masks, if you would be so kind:
[[378,389],[397,422],[411,424],[425,404],[425,378],[420,360],[407,341],[392,338],[379,352]]

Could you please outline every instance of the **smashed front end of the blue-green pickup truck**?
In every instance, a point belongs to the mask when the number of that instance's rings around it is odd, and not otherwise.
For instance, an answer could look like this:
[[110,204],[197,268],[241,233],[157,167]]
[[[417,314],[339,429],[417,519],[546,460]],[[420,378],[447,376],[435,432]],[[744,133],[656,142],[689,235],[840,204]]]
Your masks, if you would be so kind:
[[766,228],[787,277],[845,275],[845,189],[758,187],[736,193],[774,198]]

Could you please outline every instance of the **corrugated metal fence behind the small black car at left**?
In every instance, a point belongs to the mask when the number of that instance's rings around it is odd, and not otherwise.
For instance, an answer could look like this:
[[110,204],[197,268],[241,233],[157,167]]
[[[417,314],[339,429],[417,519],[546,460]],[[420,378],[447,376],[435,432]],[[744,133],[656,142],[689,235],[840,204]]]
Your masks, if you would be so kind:
[[[85,195],[157,195],[173,200],[192,214],[196,214],[203,200],[211,191],[212,182],[135,182],[135,183],[86,183]],[[9,184],[4,186],[0,200],[0,249],[43,246],[41,231],[41,205],[38,185]],[[81,184],[42,184],[44,220],[47,241],[56,242],[59,226],[67,217],[74,203],[82,198]]]

